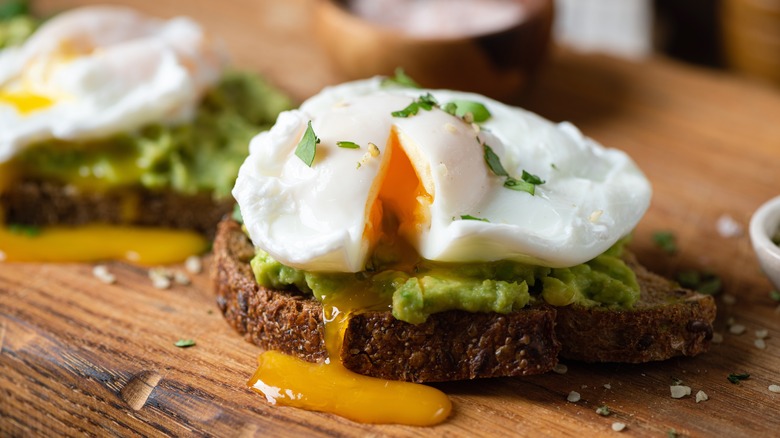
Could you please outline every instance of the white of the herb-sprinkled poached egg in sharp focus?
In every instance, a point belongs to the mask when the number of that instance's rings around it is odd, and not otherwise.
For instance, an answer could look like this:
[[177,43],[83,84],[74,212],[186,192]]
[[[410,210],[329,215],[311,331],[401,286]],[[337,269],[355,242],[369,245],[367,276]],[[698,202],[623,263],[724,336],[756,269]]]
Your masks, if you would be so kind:
[[[439,108],[392,117],[425,93],[441,104],[481,102],[492,116],[481,128]],[[321,140],[311,167],[294,154],[309,120]],[[323,90],[252,140],[233,195],[255,245],[301,269],[363,270],[373,250],[365,230],[391,135],[432,198],[425,223],[406,236],[429,260],[572,266],[628,234],[649,206],[650,184],[634,162],[571,124],[470,93],[382,89],[375,78]],[[345,140],[361,149],[336,146]],[[369,142],[380,154],[366,159]],[[535,195],[504,187],[485,162],[483,144],[510,175],[526,170],[545,183]]]

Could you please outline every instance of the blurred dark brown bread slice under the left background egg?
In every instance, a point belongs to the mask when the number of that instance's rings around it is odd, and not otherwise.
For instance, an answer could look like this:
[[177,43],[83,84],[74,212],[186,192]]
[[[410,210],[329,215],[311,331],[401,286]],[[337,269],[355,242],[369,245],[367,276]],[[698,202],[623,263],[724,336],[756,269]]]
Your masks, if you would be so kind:
[[144,188],[85,192],[57,182],[23,179],[0,193],[0,218],[36,226],[88,223],[191,229],[212,236],[233,208],[227,197],[186,195]]

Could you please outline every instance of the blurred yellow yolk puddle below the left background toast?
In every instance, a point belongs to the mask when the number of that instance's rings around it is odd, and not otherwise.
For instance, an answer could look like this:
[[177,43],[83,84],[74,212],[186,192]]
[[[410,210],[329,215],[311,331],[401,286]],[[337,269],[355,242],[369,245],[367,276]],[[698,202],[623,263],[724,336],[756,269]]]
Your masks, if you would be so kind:
[[0,255],[9,262],[125,260],[140,265],[177,263],[208,248],[194,231],[117,225],[45,227],[35,233],[0,228]]

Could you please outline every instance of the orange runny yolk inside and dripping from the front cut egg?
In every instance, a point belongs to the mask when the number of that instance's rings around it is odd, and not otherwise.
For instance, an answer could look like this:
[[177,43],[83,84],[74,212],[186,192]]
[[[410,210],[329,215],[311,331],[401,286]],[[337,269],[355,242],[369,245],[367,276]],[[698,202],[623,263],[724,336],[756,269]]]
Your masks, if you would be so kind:
[[[425,191],[395,132],[384,153],[391,155],[384,176],[379,178],[364,236],[372,245],[382,239],[383,244],[409,249],[406,241],[415,228],[427,222],[425,212],[432,196]],[[259,356],[257,371],[248,382],[252,390],[265,395],[272,404],[329,412],[362,423],[431,426],[447,418],[452,404],[441,391],[363,376],[341,363],[350,315],[380,306],[376,296],[365,291],[340,291],[324,297],[322,305],[329,359],[315,364],[266,351]]]

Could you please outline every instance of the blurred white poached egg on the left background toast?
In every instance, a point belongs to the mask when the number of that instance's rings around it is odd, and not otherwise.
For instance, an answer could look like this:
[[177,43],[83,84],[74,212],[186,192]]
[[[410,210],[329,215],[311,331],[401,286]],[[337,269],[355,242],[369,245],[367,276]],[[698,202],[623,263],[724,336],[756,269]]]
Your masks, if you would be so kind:
[[[160,20],[118,6],[60,14],[0,53],[0,162],[43,140],[188,120],[225,61],[220,45],[187,18]],[[16,103],[29,95],[49,103]]]

